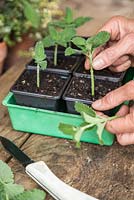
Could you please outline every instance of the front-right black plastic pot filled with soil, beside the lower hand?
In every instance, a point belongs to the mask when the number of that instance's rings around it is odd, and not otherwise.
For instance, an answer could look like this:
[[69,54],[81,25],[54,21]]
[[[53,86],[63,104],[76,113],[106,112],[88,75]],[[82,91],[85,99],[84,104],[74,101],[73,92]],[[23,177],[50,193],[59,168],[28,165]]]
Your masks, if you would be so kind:
[[[94,98],[92,98],[90,82],[91,82],[91,79],[85,78],[85,77],[73,77],[71,79],[68,87],[66,88],[66,90],[63,94],[63,99],[66,101],[66,107],[67,107],[68,113],[72,113],[72,114],[77,113],[74,108],[75,102],[82,102],[84,104],[91,106],[93,101],[98,99],[96,97],[99,95],[96,92],[97,88],[99,88],[99,91],[101,88],[102,92],[107,94],[108,92],[111,91],[110,87],[112,87],[112,90],[113,90],[120,86],[120,83],[118,83],[118,82],[111,82],[111,81],[96,79],[95,94],[97,94],[97,95]],[[106,84],[107,84],[108,88],[106,87]],[[73,97],[73,96],[75,96],[75,97]],[[104,96],[104,94],[102,96]],[[99,97],[99,98],[101,98],[101,97]],[[104,113],[110,116],[110,115],[113,115],[114,110],[111,109],[111,110],[105,111]]]

